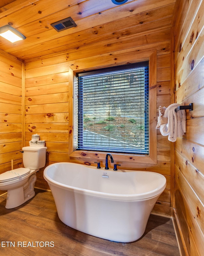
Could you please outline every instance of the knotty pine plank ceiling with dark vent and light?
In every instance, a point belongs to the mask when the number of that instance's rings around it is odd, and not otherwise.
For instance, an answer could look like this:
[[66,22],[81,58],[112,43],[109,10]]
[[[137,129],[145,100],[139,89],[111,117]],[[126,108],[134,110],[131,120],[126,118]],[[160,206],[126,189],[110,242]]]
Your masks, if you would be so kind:
[[[26,39],[10,43],[0,37],[0,49],[25,63],[61,52],[85,50],[90,56],[106,48],[111,53],[147,31],[171,28],[175,1],[128,0],[116,5],[111,0],[1,0],[0,27],[10,24]],[[68,17],[77,27],[57,32],[50,25]]]

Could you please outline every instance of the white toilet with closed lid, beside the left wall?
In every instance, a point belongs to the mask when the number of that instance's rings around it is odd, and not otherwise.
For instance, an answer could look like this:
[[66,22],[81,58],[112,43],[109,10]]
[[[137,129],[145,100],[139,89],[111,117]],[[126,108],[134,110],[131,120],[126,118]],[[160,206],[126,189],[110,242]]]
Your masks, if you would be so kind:
[[17,207],[35,195],[36,172],[45,166],[47,147],[23,147],[23,165],[0,174],[0,190],[7,191],[6,208]]

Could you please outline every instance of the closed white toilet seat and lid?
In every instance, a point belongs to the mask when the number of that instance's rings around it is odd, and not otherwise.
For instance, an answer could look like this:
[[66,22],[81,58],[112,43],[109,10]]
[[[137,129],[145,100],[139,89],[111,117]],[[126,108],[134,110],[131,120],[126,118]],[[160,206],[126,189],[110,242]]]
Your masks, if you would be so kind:
[[0,183],[10,180],[17,180],[30,173],[30,171],[31,170],[28,168],[17,168],[11,171],[4,172],[0,174]]

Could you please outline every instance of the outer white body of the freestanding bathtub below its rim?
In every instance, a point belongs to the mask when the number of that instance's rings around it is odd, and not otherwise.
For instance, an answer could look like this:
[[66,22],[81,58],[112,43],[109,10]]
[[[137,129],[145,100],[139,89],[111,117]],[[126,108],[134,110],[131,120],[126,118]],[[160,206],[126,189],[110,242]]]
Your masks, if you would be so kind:
[[144,234],[149,215],[160,196],[112,200],[49,185],[64,224],[92,236],[124,243],[133,242]]

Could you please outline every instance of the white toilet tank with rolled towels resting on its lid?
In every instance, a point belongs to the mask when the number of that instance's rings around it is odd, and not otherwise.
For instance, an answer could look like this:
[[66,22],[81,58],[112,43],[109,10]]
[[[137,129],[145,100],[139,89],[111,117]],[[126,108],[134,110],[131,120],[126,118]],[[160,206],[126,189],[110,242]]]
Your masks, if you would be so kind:
[[23,147],[23,165],[37,170],[45,166],[47,147]]

